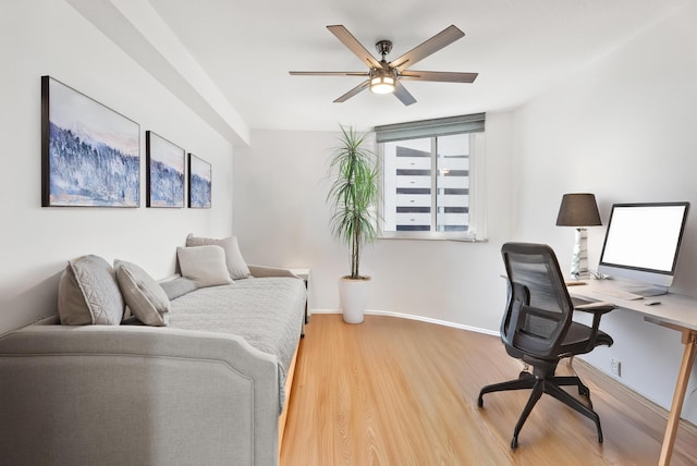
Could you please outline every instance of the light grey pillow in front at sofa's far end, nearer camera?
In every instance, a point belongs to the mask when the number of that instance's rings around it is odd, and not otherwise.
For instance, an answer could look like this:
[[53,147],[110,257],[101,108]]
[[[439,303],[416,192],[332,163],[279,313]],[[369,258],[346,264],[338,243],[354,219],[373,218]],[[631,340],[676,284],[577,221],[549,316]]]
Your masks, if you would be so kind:
[[176,257],[182,275],[196,287],[233,283],[225,266],[225,252],[220,246],[178,247]]

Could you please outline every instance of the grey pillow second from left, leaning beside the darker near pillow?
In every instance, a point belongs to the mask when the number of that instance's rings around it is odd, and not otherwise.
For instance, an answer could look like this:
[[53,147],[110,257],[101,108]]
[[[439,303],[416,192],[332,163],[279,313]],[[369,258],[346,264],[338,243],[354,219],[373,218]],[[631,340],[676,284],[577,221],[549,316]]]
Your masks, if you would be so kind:
[[170,319],[170,299],[162,286],[135,263],[114,260],[113,268],[121,294],[131,312],[146,326],[167,326]]

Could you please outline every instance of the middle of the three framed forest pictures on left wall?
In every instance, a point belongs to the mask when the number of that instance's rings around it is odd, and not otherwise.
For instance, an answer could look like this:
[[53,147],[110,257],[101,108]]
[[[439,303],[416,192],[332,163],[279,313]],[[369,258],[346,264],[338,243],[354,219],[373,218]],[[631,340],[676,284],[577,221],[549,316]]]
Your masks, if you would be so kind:
[[147,207],[184,207],[186,152],[151,131],[145,132]]

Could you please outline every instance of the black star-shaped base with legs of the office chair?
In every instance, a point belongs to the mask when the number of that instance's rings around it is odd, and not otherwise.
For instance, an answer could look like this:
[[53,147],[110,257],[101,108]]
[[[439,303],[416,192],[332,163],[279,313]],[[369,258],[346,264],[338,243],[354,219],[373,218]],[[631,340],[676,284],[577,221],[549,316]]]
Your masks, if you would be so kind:
[[[555,365],[554,365],[555,367]],[[535,375],[522,371],[517,379],[509,380],[506,382],[493,383],[491,385],[487,385],[481,389],[479,392],[479,397],[477,398],[477,405],[479,407],[484,406],[484,395],[486,393],[492,392],[502,392],[509,390],[526,390],[531,389],[530,397],[518,418],[517,424],[515,425],[515,430],[513,431],[513,439],[511,440],[511,449],[515,450],[518,445],[518,433],[521,433],[521,429],[523,429],[523,425],[525,420],[533,412],[535,404],[542,396],[543,393],[547,393],[560,402],[564,403],[568,407],[575,409],[576,412],[583,414],[587,418],[591,419],[596,424],[596,428],[598,429],[598,442],[602,443],[602,429],[600,427],[600,417],[592,409],[592,402],[590,401],[590,390],[586,387],[578,377],[576,376],[563,376],[555,377],[554,367],[547,367],[545,369],[538,371],[535,370]],[[551,369],[551,377],[549,376]],[[586,398],[588,402],[588,406],[583,404],[580,401],[565,392],[562,387],[575,385],[578,388],[578,394]]]

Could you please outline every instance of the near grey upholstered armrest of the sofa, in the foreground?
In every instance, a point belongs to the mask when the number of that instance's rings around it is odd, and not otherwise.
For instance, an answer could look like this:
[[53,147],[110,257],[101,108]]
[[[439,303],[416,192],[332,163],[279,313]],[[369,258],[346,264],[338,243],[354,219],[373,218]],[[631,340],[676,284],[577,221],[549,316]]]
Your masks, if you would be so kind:
[[32,326],[0,373],[8,464],[278,463],[278,361],[235,335]]

